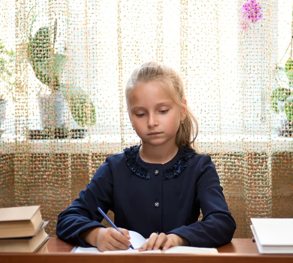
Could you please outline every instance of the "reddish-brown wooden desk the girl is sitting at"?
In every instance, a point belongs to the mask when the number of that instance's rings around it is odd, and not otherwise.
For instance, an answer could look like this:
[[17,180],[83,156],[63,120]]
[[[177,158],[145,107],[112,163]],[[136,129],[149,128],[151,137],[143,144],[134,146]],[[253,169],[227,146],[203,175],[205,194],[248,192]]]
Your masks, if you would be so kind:
[[38,253],[2,253],[0,263],[293,263],[291,255],[261,255],[251,239],[233,239],[218,255],[97,255],[70,253],[73,245],[50,238]]

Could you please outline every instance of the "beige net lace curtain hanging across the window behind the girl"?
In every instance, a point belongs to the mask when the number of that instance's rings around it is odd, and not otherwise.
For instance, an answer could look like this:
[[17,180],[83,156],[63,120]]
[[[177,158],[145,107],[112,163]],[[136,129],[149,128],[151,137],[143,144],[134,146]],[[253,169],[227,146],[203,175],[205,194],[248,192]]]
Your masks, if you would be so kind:
[[234,237],[251,237],[251,217],[293,217],[292,0],[1,0],[0,8],[0,207],[39,204],[54,234],[57,215],[105,157],[139,143],[124,86],[154,60],[183,77]]

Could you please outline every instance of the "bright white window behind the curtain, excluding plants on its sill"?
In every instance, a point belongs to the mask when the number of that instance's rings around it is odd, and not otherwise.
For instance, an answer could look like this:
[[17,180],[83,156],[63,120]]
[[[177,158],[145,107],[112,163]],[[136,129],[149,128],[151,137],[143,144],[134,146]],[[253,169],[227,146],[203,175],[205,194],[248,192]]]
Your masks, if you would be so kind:
[[[262,1],[263,19],[239,29],[241,0],[67,0],[39,3],[38,26],[58,20],[56,51],[66,55],[65,83],[81,86],[95,104],[90,133],[137,140],[128,121],[124,86],[144,61],[172,65],[183,75],[202,135],[268,135],[275,65],[291,40],[292,0]],[[15,48],[14,8],[4,1],[1,39]],[[21,7],[23,8],[23,7]],[[38,11],[38,12],[39,12]],[[24,27],[23,27],[24,28]],[[285,54],[285,55],[284,55]],[[45,89],[28,68],[29,125],[40,126],[37,96]],[[13,106],[6,128],[14,129]],[[73,119],[71,119],[72,121]],[[27,122],[25,122],[27,123]],[[273,124],[273,125],[272,125]],[[121,129],[123,127],[123,129]],[[9,130],[8,129],[8,130]]]

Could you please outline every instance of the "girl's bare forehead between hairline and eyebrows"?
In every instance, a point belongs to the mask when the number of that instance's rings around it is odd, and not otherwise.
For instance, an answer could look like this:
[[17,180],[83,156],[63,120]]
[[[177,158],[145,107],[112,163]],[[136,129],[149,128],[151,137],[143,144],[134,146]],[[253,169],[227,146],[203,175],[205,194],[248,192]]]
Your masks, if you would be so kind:
[[129,92],[128,104],[131,107],[158,104],[163,101],[171,103],[172,99],[162,85],[156,81],[138,83]]

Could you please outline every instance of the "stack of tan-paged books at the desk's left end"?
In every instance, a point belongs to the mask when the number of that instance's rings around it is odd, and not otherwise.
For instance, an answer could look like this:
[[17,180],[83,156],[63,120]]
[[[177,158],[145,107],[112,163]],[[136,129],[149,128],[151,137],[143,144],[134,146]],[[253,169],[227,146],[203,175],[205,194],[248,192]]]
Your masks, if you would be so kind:
[[36,252],[49,239],[40,206],[0,208],[0,252]]

